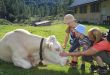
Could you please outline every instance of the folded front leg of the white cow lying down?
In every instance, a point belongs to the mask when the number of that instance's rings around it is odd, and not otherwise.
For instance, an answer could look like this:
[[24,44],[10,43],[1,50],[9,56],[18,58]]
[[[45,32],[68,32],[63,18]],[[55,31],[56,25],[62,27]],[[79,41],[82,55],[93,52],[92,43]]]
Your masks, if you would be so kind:
[[17,44],[15,46],[12,46],[11,48],[13,50],[12,61],[13,61],[14,65],[25,68],[25,69],[32,67],[30,61],[27,58],[28,51],[25,50],[24,47]]

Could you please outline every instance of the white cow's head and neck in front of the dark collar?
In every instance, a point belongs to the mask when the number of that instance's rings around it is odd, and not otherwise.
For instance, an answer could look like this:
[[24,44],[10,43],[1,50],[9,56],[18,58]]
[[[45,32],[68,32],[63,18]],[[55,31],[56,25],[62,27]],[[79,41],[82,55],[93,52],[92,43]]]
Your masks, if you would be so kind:
[[46,49],[44,50],[44,64],[53,63],[65,65],[67,57],[60,56],[63,49],[54,35],[49,36],[46,40]]

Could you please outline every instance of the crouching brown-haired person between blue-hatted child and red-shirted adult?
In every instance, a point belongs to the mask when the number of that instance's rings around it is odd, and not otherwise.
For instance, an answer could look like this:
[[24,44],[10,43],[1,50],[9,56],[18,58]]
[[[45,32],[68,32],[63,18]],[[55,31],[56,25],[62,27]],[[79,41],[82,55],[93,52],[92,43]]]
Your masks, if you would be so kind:
[[[100,31],[99,28],[95,27],[95,28],[91,28],[88,31],[88,37],[91,40],[91,43],[93,45],[95,45],[96,43],[104,40],[106,38],[106,35],[104,33],[102,33]],[[102,52],[102,54],[105,54],[106,52]],[[93,55],[93,58],[96,60],[97,65],[95,67],[95,70],[98,71],[98,73],[106,73],[107,72],[107,66],[103,63],[102,58],[100,57],[99,53]],[[94,72],[95,72],[94,70]]]

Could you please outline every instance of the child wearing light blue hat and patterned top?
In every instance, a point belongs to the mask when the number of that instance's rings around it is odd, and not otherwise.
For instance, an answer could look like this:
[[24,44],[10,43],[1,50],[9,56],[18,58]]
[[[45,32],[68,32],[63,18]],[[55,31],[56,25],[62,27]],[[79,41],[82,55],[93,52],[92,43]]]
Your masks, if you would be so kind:
[[[91,46],[91,41],[87,36],[84,35],[85,30],[86,30],[86,27],[84,25],[80,25],[80,26],[78,25],[75,28],[76,38],[79,39],[79,44],[80,44],[80,47],[82,47],[83,51],[87,50]],[[90,70],[93,71],[94,63],[93,63],[92,56],[82,56],[82,65],[81,65],[82,70],[85,70],[85,61],[91,64]]]

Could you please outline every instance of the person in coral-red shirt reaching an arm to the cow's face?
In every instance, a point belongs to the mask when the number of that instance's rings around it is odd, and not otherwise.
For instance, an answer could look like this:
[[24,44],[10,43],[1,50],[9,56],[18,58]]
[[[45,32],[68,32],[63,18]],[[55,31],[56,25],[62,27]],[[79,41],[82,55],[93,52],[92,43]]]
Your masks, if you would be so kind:
[[60,53],[60,55],[61,56],[92,56],[97,53],[102,58],[102,61],[110,66],[110,30],[105,40],[96,43],[91,48],[82,52],[73,52],[73,53],[62,52]]

